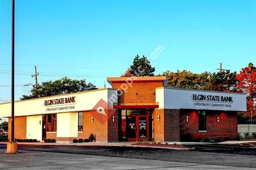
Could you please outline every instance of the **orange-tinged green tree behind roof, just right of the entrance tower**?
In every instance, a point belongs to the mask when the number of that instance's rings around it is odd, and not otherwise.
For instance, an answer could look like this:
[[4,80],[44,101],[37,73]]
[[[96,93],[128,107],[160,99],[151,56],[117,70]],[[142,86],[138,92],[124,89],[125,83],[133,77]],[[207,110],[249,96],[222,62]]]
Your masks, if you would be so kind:
[[209,90],[209,73],[195,74],[190,71],[165,71],[159,76],[166,76],[167,86],[172,88],[189,88]]

